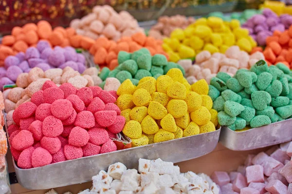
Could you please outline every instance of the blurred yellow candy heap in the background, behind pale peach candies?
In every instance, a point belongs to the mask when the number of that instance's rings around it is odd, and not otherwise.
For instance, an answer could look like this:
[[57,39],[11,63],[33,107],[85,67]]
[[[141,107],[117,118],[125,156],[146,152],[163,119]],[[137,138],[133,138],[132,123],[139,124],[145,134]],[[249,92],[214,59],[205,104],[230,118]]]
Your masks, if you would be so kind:
[[219,17],[200,18],[187,28],[175,29],[170,38],[164,39],[163,49],[169,55],[169,61],[193,58],[202,50],[211,53],[225,51],[237,45],[246,52],[256,47],[256,41],[249,31],[240,27],[237,19],[223,21]]

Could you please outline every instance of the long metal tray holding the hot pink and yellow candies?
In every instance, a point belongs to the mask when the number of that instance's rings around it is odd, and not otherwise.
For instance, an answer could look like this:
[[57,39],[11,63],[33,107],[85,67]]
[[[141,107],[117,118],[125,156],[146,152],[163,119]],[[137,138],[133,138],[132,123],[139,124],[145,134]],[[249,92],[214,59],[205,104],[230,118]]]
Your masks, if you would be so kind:
[[100,170],[107,170],[109,165],[115,162],[122,162],[127,168],[137,169],[139,158],[149,160],[161,158],[167,162],[182,162],[198,158],[215,149],[219,134],[220,129],[31,169],[18,168],[14,160],[13,165],[21,186],[27,189],[51,189],[91,181],[92,176]]

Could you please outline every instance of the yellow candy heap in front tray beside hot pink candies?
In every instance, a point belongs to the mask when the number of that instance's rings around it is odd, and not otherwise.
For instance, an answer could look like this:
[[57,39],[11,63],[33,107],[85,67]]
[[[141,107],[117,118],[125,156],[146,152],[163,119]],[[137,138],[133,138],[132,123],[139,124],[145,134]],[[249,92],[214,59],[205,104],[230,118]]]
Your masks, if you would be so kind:
[[117,90],[117,106],[126,118],[123,133],[132,146],[164,142],[215,131],[217,112],[205,80],[190,85],[178,68],[155,80],[145,77],[137,86],[128,79]]

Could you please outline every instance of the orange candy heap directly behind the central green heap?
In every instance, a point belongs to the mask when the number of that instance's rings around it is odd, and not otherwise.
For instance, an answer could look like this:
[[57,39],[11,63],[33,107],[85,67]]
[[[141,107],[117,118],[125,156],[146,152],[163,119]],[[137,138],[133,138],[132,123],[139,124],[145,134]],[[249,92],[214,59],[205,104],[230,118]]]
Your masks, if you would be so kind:
[[90,53],[94,55],[95,64],[100,67],[108,66],[112,70],[119,64],[117,57],[120,51],[134,52],[145,47],[151,55],[164,54],[167,56],[161,45],[161,41],[138,32],[131,37],[121,38],[117,43],[100,37],[92,44]]

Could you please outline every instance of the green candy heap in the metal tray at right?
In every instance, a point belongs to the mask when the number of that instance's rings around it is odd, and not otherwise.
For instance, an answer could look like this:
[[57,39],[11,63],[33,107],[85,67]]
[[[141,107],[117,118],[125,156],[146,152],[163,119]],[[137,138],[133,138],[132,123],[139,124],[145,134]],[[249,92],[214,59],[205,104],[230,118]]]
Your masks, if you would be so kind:
[[218,122],[232,130],[257,128],[290,118],[292,76],[284,64],[268,67],[263,60],[251,70],[239,69],[232,78],[219,72],[212,78],[209,96]]

